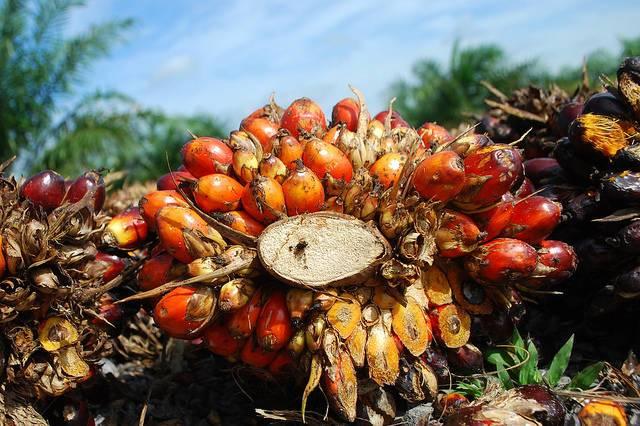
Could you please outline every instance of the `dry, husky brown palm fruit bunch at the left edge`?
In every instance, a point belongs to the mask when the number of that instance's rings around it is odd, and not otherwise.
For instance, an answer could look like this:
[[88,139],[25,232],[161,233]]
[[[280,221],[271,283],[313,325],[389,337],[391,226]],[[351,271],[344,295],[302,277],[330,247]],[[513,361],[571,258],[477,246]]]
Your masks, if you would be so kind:
[[23,424],[30,408],[17,401],[79,386],[110,350],[117,310],[104,302],[126,261],[100,251],[109,217],[98,173],[65,180],[46,170],[18,182],[4,174],[9,163],[0,166],[0,423]]

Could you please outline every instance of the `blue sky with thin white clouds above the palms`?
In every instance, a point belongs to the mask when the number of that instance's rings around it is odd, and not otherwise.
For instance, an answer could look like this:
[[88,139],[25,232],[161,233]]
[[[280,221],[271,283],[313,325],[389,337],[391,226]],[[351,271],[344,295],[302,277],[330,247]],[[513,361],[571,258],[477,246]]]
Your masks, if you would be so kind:
[[496,42],[514,61],[577,65],[640,35],[637,1],[89,0],[66,29],[131,17],[127,41],[86,74],[84,90],[117,89],[170,113],[209,112],[233,126],[272,92],[327,113],[360,88],[374,112],[424,57],[446,61],[456,39]]

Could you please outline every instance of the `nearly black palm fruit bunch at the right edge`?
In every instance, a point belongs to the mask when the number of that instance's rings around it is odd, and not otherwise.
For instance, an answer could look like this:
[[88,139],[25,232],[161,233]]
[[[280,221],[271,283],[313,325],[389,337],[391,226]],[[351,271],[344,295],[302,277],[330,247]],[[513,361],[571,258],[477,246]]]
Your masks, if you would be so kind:
[[[571,243],[581,260],[575,285],[545,307],[564,313],[559,321],[565,324],[578,321],[576,329],[596,338],[599,344],[588,348],[589,357],[621,361],[629,349],[629,331],[615,324],[635,326],[640,296],[640,58],[622,62],[617,82],[603,81],[601,91],[590,92],[583,84],[575,96],[565,94],[547,104],[543,90],[538,93],[544,96],[519,103],[518,94],[525,90],[502,95],[508,100],[490,102],[495,108],[484,122],[510,129],[515,138],[534,129],[521,141],[525,174],[540,195],[563,205],[555,235]],[[527,105],[543,104],[549,111],[544,123],[522,118],[538,115]],[[545,135],[544,149],[534,134]]]

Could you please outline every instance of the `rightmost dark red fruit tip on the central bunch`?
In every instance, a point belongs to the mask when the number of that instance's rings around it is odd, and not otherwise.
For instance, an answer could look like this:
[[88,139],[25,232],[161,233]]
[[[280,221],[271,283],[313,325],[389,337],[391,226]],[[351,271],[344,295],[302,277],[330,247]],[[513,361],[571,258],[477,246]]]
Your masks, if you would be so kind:
[[523,284],[531,288],[556,284],[571,277],[577,268],[578,256],[569,244],[555,240],[541,241],[536,270]]

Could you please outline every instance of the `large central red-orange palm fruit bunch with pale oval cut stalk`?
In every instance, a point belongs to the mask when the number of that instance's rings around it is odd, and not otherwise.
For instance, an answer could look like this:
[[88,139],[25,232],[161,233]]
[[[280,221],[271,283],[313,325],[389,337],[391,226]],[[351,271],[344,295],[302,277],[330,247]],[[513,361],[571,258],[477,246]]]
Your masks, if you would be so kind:
[[509,338],[519,289],[576,258],[546,240],[561,207],[531,192],[516,148],[415,130],[391,106],[371,119],[353,92],[329,127],[310,99],[272,100],[226,140],[194,137],[140,200],[149,237],[126,212],[107,233],[148,247],[124,301],[150,300],[167,335],[304,378],[303,412],[321,387],[344,419],[384,423],[435,398],[449,365],[482,370],[471,335]]

